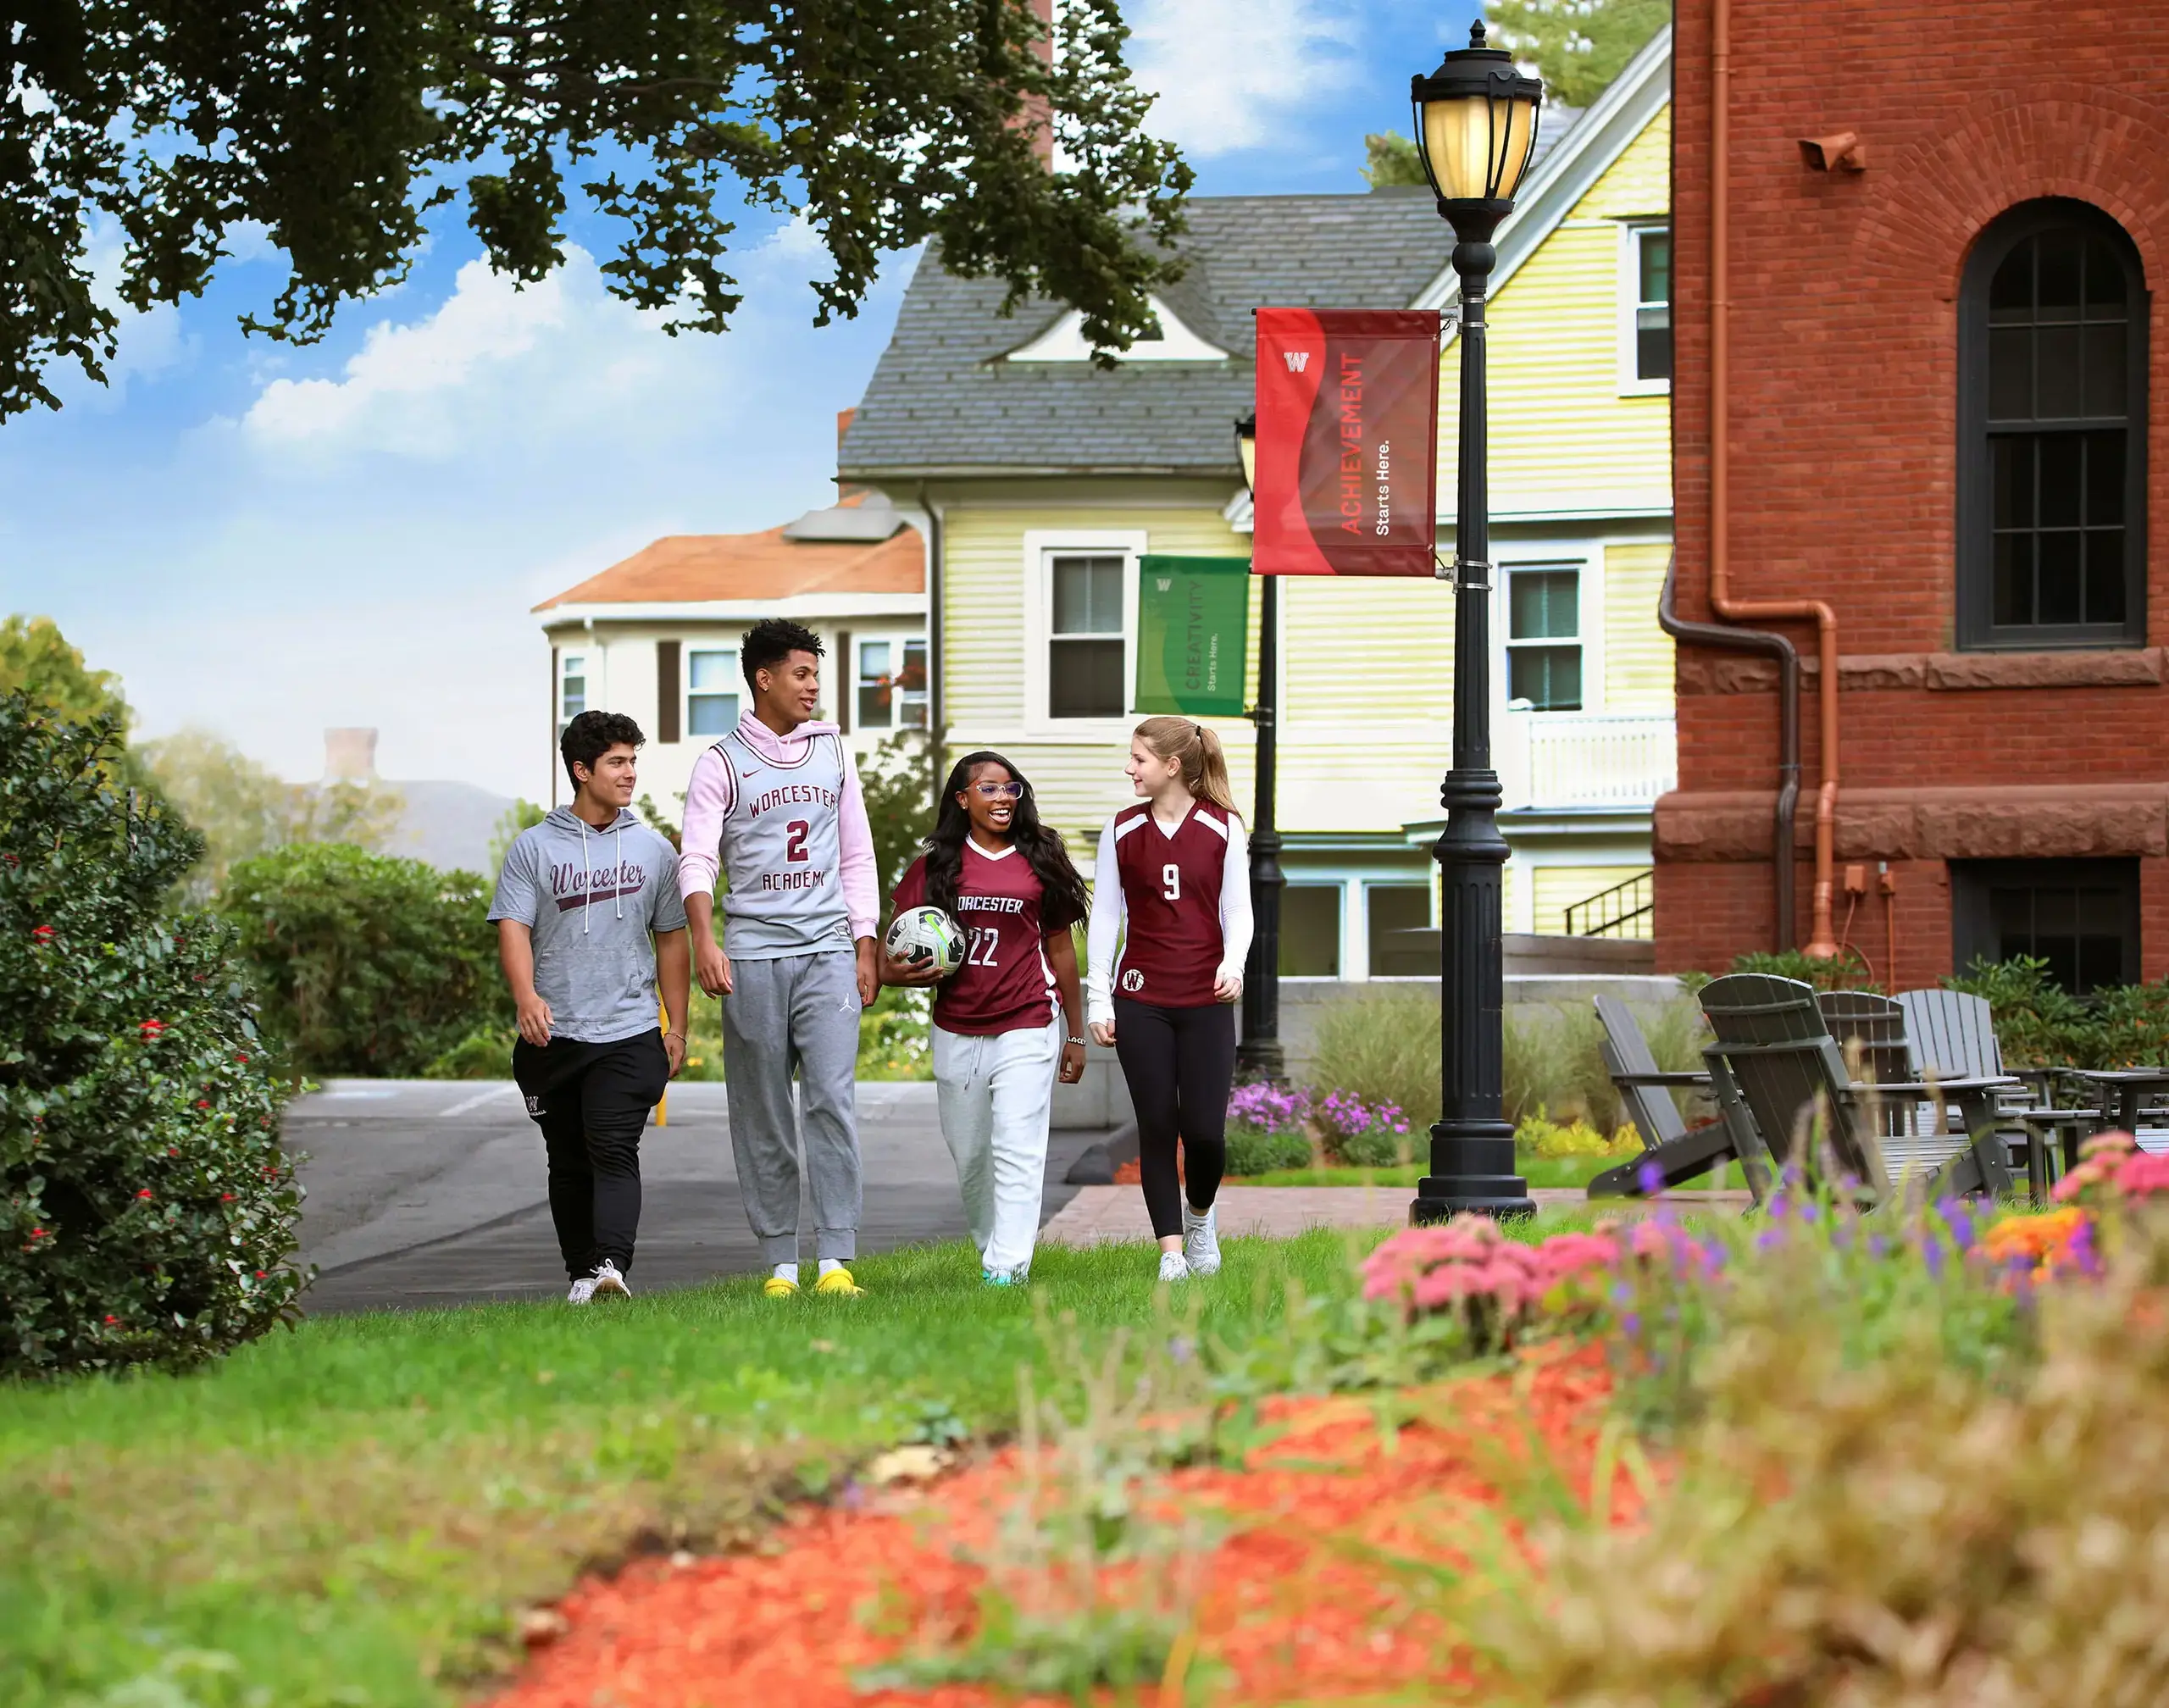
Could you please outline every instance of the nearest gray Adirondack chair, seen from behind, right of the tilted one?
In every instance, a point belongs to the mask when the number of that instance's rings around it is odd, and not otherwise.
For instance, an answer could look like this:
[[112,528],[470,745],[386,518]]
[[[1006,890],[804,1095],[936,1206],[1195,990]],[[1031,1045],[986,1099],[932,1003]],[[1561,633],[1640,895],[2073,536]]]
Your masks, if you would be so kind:
[[[1766,973],[1731,973],[1703,986],[1703,1014],[1714,1043],[1705,1051],[1720,1105],[1737,1097],[1753,1118],[1763,1149],[1779,1166],[1798,1164],[1811,1177],[1824,1157],[1798,1140],[1820,1108],[1828,1162],[1859,1181],[1863,1194],[1883,1201],[1891,1192],[1881,1131],[1881,1103],[1956,1105],[1972,1142],[1930,1181],[1913,1173],[1911,1183],[1928,1194],[2006,1192],[2011,1162],[1995,1140],[1995,1095],[2015,1082],[1952,1077],[1852,1079],[1844,1051],[1831,1036],[1809,984]],[[1722,1075],[1722,1079],[1720,1079]],[[1941,1121],[1937,1121],[1941,1127]]]

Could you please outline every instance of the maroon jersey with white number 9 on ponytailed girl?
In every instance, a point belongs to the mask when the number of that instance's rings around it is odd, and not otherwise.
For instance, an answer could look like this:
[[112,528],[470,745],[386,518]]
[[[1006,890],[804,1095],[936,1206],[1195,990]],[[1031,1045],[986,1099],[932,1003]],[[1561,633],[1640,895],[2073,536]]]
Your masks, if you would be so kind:
[[1217,1001],[1225,943],[1219,930],[1221,874],[1228,869],[1228,815],[1191,802],[1169,837],[1143,802],[1115,815],[1115,871],[1130,923],[1115,965],[1115,995],[1158,1008]]

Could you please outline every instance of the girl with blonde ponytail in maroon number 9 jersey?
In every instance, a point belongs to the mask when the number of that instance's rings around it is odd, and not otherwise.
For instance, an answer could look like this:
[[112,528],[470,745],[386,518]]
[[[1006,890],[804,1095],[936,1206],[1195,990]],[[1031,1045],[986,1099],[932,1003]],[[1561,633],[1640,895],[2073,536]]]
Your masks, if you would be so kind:
[[1100,832],[1087,1014],[1130,1082],[1160,1279],[1182,1281],[1219,1268],[1212,1199],[1228,1164],[1232,1004],[1243,995],[1252,930],[1249,847],[1212,730],[1189,717],[1147,717],[1130,739],[1126,769],[1143,800]]

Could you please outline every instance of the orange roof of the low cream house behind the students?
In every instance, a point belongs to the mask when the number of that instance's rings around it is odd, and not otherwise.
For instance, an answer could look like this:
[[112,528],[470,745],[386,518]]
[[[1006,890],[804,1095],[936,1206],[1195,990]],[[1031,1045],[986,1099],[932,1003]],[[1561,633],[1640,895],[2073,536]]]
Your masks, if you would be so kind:
[[681,605],[761,600],[792,594],[917,594],[926,551],[917,529],[887,540],[785,540],[761,533],[670,533],[623,564],[536,605]]

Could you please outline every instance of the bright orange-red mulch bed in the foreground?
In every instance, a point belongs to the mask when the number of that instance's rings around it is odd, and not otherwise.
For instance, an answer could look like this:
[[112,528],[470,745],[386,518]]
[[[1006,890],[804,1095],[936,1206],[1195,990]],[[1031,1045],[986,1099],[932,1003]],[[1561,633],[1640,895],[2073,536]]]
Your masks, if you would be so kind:
[[[1586,1498],[1607,1394],[1596,1348],[1546,1346],[1518,1381],[1492,1374],[1425,1389],[1436,1407],[1390,1441],[1369,1398],[1286,1398],[1265,1407],[1282,1433],[1245,1470],[1169,1472],[1171,1496],[1228,1524],[1195,1621],[1197,1654],[1234,1675],[1225,1697],[1473,1682],[1471,1658],[1429,1606],[1436,1595],[1366,1565],[1349,1543],[1460,1565],[1455,1539],[1468,1532],[1458,1515],[1501,1504],[1494,1476],[1512,1476],[1531,1433]],[[805,1511],[763,1554],[683,1567],[640,1561],[583,1582],[560,1606],[564,1634],[534,1654],[495,1708],[1013,1701],[983,1686],[861,1695],[852,1673],[889,1660],[928,1626],[967,1628],[980,1571],[959,1548],[985,1543],[1015,1491],[1009,1450],[859,1511]],[[1612,1511],[1616,1522],[1640,1513],[1625,1476]],[[861,1617],[876,1604],[891,1634]]]

